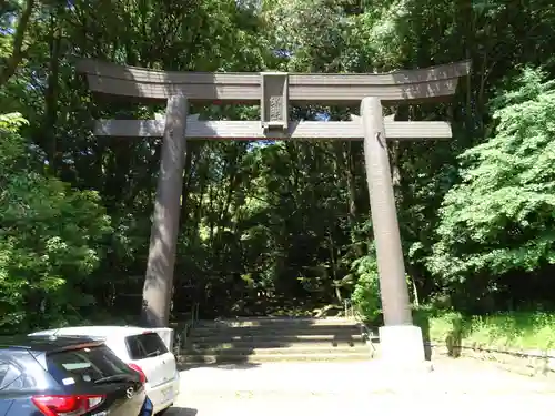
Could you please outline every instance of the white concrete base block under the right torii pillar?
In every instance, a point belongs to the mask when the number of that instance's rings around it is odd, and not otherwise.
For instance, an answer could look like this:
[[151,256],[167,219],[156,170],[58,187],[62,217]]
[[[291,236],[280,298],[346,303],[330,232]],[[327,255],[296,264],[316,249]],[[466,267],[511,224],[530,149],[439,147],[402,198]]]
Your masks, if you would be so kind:
[[392,367],[431,369],[426,362],[422,331],[414,325],[382,326],[380,335],[380,361]]

